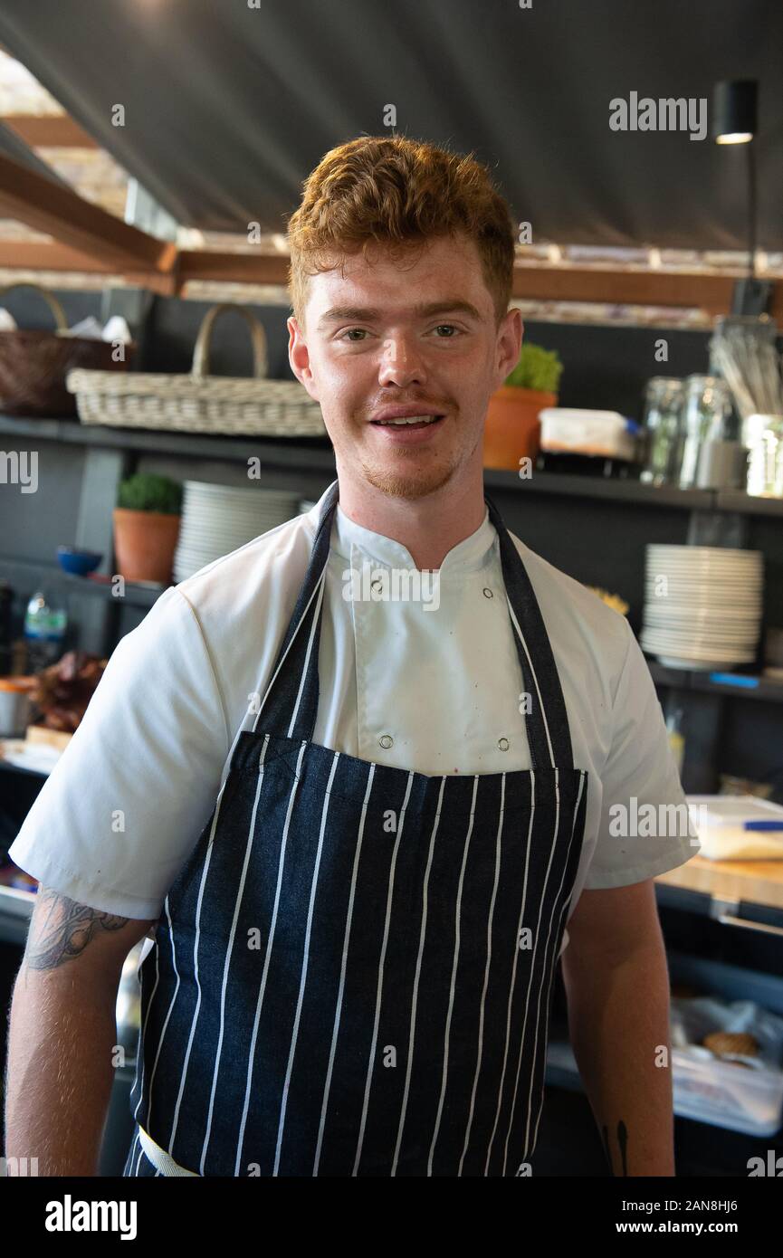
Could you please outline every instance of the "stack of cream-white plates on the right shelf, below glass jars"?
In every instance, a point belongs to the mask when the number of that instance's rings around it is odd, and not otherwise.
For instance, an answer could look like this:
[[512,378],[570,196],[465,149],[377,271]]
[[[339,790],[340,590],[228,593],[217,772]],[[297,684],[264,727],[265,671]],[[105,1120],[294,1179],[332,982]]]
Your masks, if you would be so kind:
[[763,587],[762,551],[648,546],[642,649],[668,668],[753,663]]

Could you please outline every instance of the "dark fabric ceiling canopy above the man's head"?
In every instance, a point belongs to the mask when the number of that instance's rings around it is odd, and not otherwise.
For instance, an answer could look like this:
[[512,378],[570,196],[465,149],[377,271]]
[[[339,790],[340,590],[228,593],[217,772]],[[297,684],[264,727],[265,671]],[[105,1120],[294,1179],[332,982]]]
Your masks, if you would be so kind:
[[[252,3],[3,0],[0,40],[170,214],[218,231],[284,231],[321,156],[392,133],[393,106],[397,133],[485,161],[534,243],[743,249],[746,153],[709,113],[718,81],[755,78],[758,243],[783,249],[779,0]],[[612,102],[631,120],[645,98],[657,126],[657,102],[695,122],[704,101],[704,138],[612,130]]]

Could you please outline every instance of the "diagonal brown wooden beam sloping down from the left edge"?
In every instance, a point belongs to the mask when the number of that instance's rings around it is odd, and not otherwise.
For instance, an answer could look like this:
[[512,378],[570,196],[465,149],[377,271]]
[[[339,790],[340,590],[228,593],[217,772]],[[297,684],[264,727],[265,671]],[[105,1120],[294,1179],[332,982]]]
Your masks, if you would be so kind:
[[91,254],[107,270],[132,267],[165,273],[176,258],[176,245],[122,223],[5,153],[0,153],[0,215]]

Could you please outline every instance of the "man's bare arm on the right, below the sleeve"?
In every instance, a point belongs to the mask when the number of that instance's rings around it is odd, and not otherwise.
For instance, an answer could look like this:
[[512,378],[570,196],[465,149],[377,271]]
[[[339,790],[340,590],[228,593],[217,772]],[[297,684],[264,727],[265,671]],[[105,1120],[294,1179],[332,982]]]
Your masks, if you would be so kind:
[[652,878],[583,891],[568,933],[572,1045],[612,1172],[673,1175],[670,985]]

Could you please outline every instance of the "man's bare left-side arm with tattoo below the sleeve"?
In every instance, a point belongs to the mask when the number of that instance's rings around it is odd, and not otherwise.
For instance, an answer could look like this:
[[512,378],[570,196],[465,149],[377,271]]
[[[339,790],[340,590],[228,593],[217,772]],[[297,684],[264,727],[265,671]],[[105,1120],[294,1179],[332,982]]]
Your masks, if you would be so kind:
[[37,1157],[39,1175],[97,1175],[120,975],[152,925],[39,887],[14,985],[5,1081],[5,1156]]

